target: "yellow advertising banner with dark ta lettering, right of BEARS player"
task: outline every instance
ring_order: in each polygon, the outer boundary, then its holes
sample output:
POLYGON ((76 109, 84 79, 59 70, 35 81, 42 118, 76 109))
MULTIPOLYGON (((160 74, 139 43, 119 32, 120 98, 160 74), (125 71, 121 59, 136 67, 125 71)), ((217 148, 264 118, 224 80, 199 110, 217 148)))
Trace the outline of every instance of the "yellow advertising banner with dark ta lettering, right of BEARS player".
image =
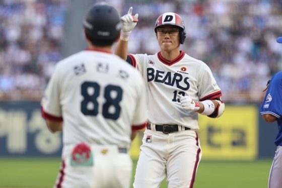
POLYGON ((199 115, 202 159, 251 160, 258 155, 256 106, 226 106, 217 119, 199 115))

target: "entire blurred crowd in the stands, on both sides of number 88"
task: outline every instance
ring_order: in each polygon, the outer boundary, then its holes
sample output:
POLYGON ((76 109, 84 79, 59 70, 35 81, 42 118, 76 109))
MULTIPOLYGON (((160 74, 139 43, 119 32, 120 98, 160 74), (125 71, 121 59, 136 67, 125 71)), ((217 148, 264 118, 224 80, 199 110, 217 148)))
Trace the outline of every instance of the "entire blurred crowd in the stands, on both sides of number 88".
MULTIPOLYGON (((39 100, 55 63, 62 58, 69 2, 0 2, 0 99, 39 100)), ((225 102, 260 103, 266 82, 282 70, 282 45, 276 43, 282 36, 282 0, 104 2, 114 4, 121 15, 129 7, 133 15, 139 14, 129 53, 158 52, 156 19, 165 12, 179 14, 187 32, 181 49, 212 69, 225 102)))

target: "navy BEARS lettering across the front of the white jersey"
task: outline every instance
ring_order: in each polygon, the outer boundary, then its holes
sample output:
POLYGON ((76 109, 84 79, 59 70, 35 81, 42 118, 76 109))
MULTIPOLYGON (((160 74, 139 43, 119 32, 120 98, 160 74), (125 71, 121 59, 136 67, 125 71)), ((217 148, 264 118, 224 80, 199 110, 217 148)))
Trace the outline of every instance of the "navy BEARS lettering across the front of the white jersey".
POLYGON ((154 68, 147 68, 147 80, 155 81, 159 83, 164 83, 166 85, 173 86, 176 83, 176 87, 182 90, 188 90, 190 87, 190 84, 188 83, 188 77, 182 76, 182 74, 179 74, 177 72, 165 72, 161 70, 156 70, 154 68), (180 83, 184 82, 184 85, 181 86, 180 83))

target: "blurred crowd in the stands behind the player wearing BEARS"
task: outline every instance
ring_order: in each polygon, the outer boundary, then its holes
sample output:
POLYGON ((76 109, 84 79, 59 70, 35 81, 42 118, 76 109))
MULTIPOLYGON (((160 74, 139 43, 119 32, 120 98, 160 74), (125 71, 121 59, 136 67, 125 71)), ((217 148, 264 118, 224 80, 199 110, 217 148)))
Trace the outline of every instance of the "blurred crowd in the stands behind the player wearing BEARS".
POLYGON ((165 12, 179 14, 187 32, 181 49, 212 69, 226 102, 261 103, 267 81, 282 70, 282 45, 276 43, 282 36, 281 0, 126 2, 123 14, 131 6, 139 14, 130 52, 158 52, 156 19, 165 12))

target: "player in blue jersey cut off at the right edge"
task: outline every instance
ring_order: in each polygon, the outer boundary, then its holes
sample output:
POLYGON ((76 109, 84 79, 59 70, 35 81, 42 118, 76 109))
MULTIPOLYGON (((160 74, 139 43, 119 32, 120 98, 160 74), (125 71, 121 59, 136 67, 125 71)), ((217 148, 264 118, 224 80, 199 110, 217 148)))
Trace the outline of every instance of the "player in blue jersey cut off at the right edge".
MULTIPOLYGON (((282 43, 282 37, 277 38, 282 43)), ((277 72, 267 83, 267 91, 260 107, 264 121, 278 124, 278 133, 274 141, 277 146, 272 166, 269 172, 268 188, 282 186, 282 71, 277 72)))

